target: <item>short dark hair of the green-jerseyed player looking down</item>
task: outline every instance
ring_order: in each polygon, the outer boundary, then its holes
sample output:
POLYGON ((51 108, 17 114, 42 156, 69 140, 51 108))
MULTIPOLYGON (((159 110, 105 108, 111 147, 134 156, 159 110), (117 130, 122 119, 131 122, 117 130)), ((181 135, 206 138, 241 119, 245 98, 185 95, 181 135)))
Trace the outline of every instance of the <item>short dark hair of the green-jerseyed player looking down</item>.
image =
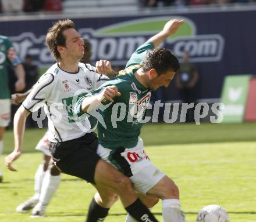
POLYGON ((180 63, 170 50, 159 47, 147 52, 147 55, 140 63, 140 68, 144 72, 154 68, 158 75, 161 75, 169 70, 176 72, 180 68, 180 63))

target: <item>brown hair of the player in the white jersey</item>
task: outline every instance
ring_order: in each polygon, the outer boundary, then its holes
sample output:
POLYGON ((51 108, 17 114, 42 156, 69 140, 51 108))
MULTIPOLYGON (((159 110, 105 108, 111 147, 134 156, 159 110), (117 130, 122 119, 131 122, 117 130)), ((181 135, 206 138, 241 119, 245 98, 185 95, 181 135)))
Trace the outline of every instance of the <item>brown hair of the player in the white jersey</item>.
POLYGON ((61 58, 57 46, 65 46, 66 37, 62 33, 68 28, 74 28, 74 23, 72 20, 58 20, 53 24, 51 28, 49 28, 47 32, 46 43, 52 53, 52 56, 54 56, 54 59, 56 61, 61 58))

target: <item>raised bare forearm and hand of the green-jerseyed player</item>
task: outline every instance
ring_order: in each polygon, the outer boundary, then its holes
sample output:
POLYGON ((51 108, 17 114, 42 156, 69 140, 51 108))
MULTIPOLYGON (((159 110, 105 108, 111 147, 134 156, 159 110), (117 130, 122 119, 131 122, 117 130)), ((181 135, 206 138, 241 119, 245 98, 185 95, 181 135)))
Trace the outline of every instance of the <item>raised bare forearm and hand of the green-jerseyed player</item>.
POLYGON ((183 23, 184 19, 172 19, 168 21, 163 27, 163 30, 148 39, 148 41, 154 43, 155 47, 158 47, 166 38, 174 34, 183 23))

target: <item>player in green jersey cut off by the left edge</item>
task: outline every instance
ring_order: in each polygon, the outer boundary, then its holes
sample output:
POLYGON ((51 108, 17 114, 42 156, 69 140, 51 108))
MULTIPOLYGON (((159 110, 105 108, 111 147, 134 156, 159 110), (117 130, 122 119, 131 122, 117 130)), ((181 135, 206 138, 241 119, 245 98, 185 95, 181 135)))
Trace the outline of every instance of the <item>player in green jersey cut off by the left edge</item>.
MULTIPOLYGON (((10 90, 8 85, 7 66, 11 65, 17 77, 15 90, 21 91, 25 88, 25 72, 19 57, 13 48, 12 42, 8 37, 0 35, 0 155, 3 150, 3 133, 10 122, 10 90)), ((0 183, 2 172, 0 169, 0 183)))

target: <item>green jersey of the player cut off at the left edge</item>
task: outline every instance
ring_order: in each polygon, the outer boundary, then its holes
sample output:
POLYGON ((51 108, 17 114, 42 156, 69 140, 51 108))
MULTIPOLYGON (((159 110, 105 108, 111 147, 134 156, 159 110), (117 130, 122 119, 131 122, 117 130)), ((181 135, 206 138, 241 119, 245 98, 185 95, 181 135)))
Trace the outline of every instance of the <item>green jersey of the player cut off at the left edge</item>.
POLYGON ((10 99, 7 65, 15 67, 20 63, 8 37, 0 35, 0 99, 10 99))

